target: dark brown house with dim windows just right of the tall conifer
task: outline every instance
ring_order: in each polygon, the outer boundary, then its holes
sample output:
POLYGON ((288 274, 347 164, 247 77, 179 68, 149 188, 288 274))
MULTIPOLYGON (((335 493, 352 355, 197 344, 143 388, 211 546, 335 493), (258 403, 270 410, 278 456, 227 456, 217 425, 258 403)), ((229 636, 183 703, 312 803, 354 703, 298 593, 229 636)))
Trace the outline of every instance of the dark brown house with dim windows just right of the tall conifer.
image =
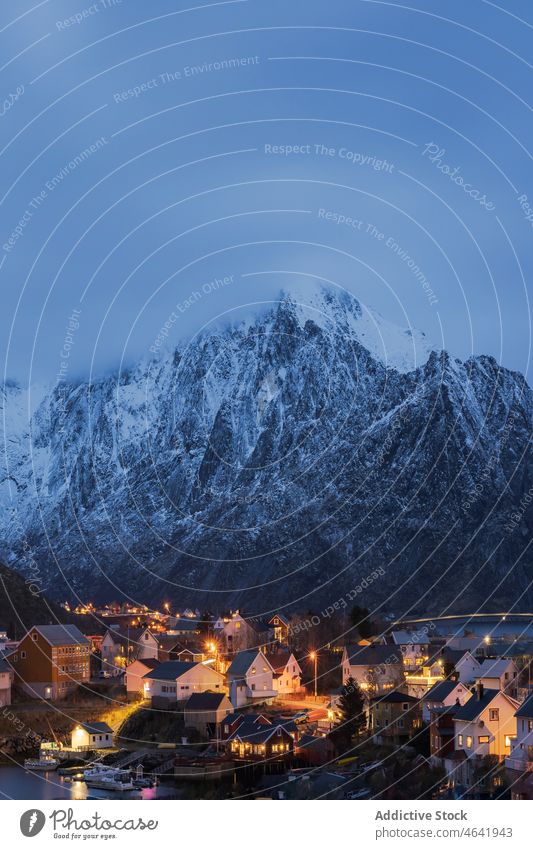
POLYGON ((422 725, 418 699, 397 691, 371 699, 368 718, 369 730, 380 744, 401 746, 422 725))

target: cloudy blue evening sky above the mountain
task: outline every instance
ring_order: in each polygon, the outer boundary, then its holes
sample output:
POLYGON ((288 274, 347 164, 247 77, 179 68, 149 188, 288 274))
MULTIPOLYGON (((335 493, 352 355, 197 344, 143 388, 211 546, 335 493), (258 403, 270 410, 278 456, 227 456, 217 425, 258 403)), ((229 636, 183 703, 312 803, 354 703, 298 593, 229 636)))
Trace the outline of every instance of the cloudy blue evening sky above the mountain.
POLYGON ((314 275, 531 377, 532 36, 527 0, 3 3, 4 375, 54 380, 73 310, 100 374, 314 275))

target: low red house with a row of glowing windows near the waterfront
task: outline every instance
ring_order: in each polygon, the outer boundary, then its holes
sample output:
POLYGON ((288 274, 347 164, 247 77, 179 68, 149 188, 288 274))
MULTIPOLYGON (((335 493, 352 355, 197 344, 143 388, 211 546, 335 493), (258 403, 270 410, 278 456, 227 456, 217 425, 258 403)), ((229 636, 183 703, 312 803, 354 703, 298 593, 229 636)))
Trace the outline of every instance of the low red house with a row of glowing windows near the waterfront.
POLYGON ((232 758, 251 761, 287 758, 294 750, 294 741, 283 725, 256 722, 246 714, 225 745, 232 758))

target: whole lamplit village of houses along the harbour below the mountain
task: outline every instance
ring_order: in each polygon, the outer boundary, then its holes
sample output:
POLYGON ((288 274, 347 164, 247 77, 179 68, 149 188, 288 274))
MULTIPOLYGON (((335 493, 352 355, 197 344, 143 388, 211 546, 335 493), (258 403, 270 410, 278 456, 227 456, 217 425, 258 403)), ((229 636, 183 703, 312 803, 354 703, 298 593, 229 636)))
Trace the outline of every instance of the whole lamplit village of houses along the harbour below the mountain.
POLYGON ((0 630, 0 737, 72 798, 533 798, 532 643, 358 607, 64 609, 81 627, 0 630))

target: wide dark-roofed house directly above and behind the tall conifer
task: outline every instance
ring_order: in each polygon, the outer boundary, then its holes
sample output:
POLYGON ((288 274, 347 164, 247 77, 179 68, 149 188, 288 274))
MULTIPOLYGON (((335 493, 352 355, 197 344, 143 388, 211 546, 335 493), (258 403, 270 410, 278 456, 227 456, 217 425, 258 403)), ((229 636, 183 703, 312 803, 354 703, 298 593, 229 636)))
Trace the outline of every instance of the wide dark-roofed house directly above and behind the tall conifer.
POLYGON ((403 656, 391 645, 348 645, 342 653, 342 683, 353 678, 369 696, 385 693, 404 681, 403 656))

